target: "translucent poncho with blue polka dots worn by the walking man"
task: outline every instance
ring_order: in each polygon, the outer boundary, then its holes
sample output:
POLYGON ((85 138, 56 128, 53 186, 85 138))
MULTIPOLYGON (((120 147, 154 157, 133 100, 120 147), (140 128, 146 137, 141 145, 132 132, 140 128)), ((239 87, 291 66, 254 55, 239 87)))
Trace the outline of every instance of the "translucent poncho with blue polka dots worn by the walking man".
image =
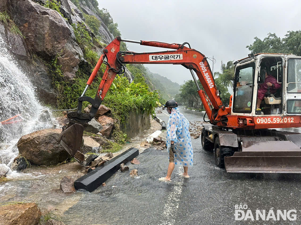
POLYGON ((189 121, 180 113, 178 107, 173 107, 166 128, 166 147, 169 153, 171 141, 175 142, 174 163, 178 166, 193 166, 193 150, 188 127, 189 121))

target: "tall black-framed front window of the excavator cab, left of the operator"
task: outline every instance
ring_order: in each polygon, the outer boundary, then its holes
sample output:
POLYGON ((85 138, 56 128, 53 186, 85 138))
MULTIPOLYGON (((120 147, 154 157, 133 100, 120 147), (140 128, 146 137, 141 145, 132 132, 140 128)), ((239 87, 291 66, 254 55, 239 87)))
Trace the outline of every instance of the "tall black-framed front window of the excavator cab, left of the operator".
POLYGON ((253 100, 255 63, 236 68, 234 81, 233 112, 251 113, 253 100))

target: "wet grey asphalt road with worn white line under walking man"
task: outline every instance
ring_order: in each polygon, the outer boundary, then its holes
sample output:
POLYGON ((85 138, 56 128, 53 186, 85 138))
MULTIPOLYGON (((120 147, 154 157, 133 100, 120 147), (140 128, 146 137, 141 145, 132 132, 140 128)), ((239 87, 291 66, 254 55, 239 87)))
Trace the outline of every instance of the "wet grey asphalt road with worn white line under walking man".
MULTIPOLYGON (((203 114, 180 110, 190 121, 202 121, 203 114)), ((166 113, 166 111, 164 111, 166 113)), ((167 122, 168 116, 157 114, 167 122)), ((213 152, 203 151, 200 138, 192 139, 194 166, 188 179, 175 167, 172 182, 159 181, 168 167, 166 150, 147 149, 137 159, 138 178, 116 172, 93 193, 64 214, 66 224, 301 224, 299 174, 226 173, 214 164, 213 152), (116 187, 112 187, 116 186, 116 187), (246 204, 255 221, 235 221, 235 205, 246 204), (272 208, 276 221, 257 220, 256 209, 272 208), (296 210, 296 220, 277 220, 277 210, 296 210)), ((247 212, 244 210, 244 212, 247 212)))

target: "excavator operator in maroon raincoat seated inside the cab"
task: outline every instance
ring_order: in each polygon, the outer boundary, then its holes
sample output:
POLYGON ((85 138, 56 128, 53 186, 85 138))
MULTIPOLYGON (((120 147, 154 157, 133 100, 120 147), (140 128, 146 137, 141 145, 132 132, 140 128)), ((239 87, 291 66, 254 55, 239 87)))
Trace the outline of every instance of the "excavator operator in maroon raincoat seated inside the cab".
MULTIPOLYGON (((277 79, 270 74, 269 67, 265 67, 264 69, 265 81, 262 84, 260 84, 260 87, 257 92, 257 109, 259 109, 260 104, 265 97, 265 93, 268 91, 268 87, 270 87, 271 94, 275 94, 277 89, 281 87, 281 84, 278 84, 277 79)), ((261 112, 261 114, 263 115, 263 112, 261 112)))

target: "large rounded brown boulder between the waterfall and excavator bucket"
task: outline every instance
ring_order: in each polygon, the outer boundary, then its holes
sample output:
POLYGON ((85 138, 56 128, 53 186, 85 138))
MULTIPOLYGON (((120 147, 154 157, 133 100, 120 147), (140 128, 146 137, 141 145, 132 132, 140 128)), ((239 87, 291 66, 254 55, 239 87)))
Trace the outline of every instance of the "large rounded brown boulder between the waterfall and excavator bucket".
POLYGON ((44 129, 23 135, 17 147, 19 153, 37 165, 56 165, 70 157, 58 142, 61 129, 44 129))

